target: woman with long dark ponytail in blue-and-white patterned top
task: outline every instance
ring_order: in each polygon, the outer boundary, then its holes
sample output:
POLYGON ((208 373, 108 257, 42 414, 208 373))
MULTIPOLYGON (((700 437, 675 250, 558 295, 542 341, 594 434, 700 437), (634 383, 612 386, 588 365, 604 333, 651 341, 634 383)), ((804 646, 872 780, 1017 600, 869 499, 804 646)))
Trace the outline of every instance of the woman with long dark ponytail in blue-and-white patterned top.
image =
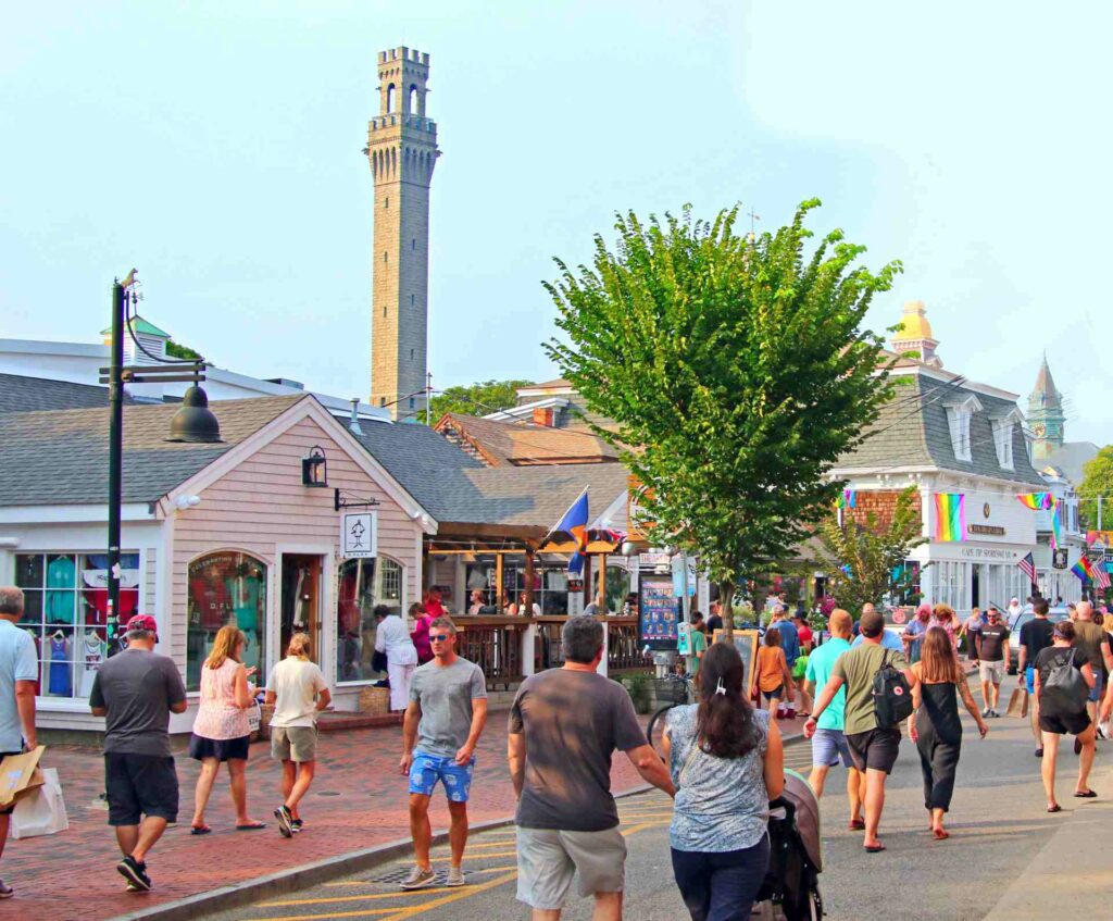
POLYGON ((745 677, 738 650, 711 644, 699 703, 667 717, 672 872, 692 921, 749 921, 769 864, 769 801, 785 788, 785 754, 777 722, 750 705, 745 677))

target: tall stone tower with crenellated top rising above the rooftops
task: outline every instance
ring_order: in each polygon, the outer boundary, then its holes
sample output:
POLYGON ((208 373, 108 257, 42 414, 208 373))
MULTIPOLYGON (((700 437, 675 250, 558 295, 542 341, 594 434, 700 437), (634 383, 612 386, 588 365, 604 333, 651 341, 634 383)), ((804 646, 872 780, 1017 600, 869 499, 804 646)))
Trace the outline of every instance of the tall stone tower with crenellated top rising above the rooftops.
POLYGON ((378 116, 364 153, 375 183, 371 402, 394 419, 425 409, 429 187, 441 151, 425 117, 429 55, 378 52, 378 116))

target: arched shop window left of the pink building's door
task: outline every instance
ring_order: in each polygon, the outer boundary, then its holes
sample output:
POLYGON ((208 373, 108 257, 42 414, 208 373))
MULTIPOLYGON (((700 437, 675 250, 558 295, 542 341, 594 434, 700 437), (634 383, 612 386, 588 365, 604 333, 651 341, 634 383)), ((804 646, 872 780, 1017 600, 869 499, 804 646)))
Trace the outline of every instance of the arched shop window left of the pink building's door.
POLYGON ((247 553, 209 553, 189 564, 186 628, 186 690, 200 688, 201 665, 221 627, 239 627, 247 637, 243 660, 267 674, 267 566, 247 553))

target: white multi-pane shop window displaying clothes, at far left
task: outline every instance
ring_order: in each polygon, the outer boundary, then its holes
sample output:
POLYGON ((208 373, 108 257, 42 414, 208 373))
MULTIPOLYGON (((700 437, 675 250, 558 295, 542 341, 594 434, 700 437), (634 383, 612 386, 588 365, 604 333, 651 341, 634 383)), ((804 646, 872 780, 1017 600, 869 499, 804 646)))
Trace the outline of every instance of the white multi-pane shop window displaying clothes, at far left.
MULTIPOLYGON (((88 697, 108 655, 108 555, 17 553, 20 629, 39 654, 42 697, 88 697)), ((139 609, 139 555, 120 555, 120 624, 139 609)))

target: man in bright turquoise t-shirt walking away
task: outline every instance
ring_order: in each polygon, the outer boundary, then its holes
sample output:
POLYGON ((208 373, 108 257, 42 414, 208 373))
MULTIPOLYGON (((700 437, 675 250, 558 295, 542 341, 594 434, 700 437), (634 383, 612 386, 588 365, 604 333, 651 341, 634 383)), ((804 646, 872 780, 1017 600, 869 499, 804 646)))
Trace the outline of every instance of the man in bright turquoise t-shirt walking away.
MULTIPOLYGON (((826 687, 831 677, 831 669, 835 668, 836 659, 850 648, 850 630, 854 621, 847 611, 841 608, 833 610, 827 626, 831 638, 808 656, 805 679, 808 683, 808 693, 812 696, 817 689, 826 687)), ((865 784, 866 775, 855 768, 854 760, 850 757, 850 748, 846 743, 843 722, 845 706, 846 689, 839 688, 830 706, 819 717, 816 734, 811 739, 811 774, 808 776, 808 783, 811 785, 816 798, 821 797, 827 772, 835 767, 841 758, 843 766, 847 771, 846 795, 850 800, 850 823, 847 827, 860 832, 866 827, 866 823, 861 820, 861 787, 865 784)))

